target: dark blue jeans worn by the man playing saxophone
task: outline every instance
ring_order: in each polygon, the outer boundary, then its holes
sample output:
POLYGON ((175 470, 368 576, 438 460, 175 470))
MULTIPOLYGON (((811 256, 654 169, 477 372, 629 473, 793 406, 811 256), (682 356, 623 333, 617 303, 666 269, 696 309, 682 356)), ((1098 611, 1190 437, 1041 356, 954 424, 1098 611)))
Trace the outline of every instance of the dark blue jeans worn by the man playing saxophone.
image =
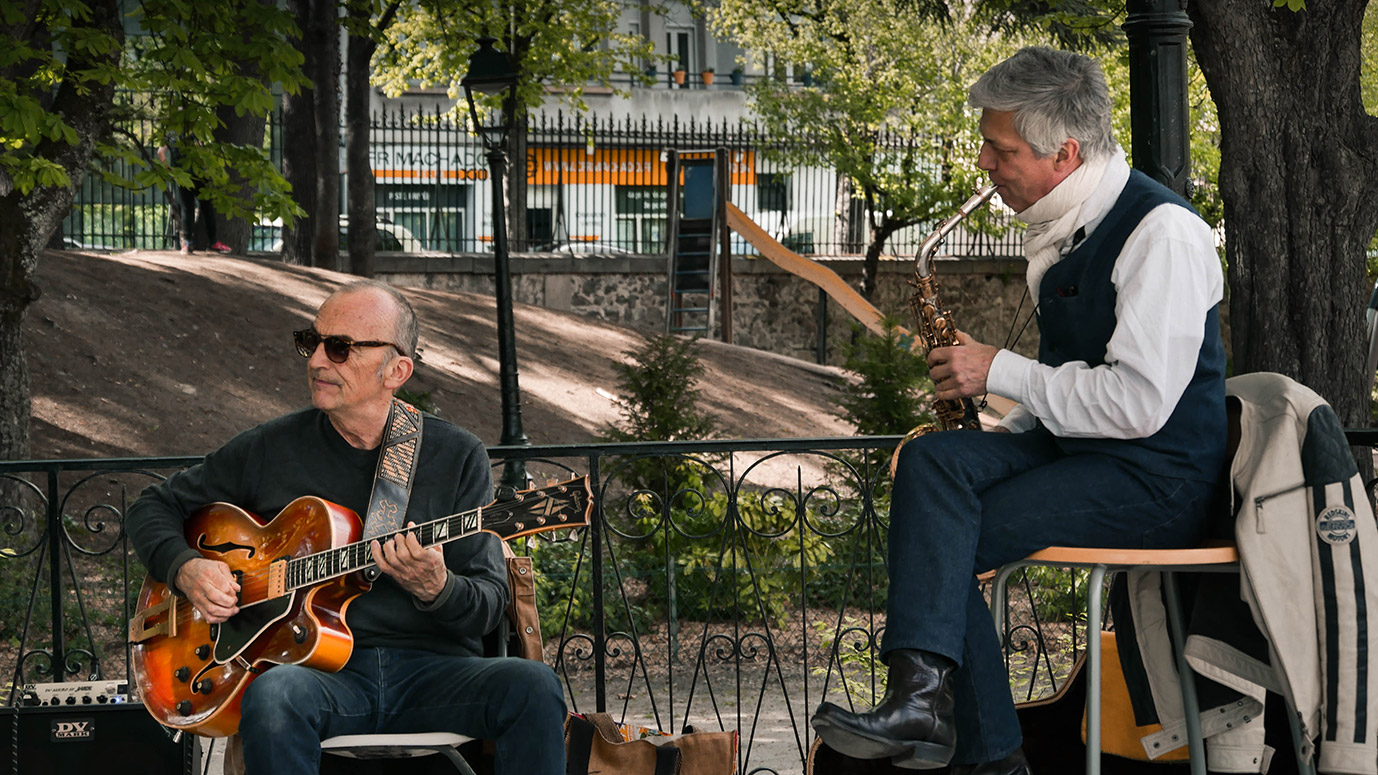
POLYGON ((1214 483, 1065 455, 1046 430, 930 433, 904 447, 890 505, 886 629, 897 648, 956 662, 955 764, 1021 743, 1000 640, 976 574, 1046 546, 1160 549, 1204 536, 1214 483))

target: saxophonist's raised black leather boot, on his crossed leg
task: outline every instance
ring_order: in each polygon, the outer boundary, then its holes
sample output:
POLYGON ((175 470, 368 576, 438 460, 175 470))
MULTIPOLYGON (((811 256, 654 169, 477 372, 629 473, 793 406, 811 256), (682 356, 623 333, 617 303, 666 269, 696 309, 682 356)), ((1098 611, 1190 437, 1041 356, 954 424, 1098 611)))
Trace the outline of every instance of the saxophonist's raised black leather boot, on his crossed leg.
POLYGON ((828 747, 854 758, 885 758, 911 769, 937 769, 952 758, 955 665, 927 651, 889 654, 889 680, 881 703, 868 713, 852 713, 824 702, 813 714, 813 728, 828 747))

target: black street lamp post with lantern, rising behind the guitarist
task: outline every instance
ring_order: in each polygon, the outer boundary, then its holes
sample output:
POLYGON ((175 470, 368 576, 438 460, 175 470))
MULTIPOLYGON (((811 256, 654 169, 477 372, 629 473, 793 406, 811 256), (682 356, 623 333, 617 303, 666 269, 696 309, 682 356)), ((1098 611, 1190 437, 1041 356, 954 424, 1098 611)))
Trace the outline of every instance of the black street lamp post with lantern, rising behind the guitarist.
MULTIPOLYGON (((503 179, 507 177, 507 139, 513 128, 513 108, 517 101, 517 70, 507 55, 493 48, 492 37, 478 39, 478 51, 469 58, 469 72, 460 85, 469 101, 469 116, 488 152, 488 170, 493 182, 493 273, 497 298, 497 382, 503 396, 503 447, 522 447, 526 434, 521 429, 521 388, 517 385, 517 339, 513 332, 513 283, 507 266, 507 208, 503 200, 503 179), (502 94, 503 106, 496 120, 478 120, 474 92, 502 94)), ((489 114, 489 119, 493 119, 489 114)), ((503 466, 502 487, 526 487, 526 462, 508 459, 503 466)))

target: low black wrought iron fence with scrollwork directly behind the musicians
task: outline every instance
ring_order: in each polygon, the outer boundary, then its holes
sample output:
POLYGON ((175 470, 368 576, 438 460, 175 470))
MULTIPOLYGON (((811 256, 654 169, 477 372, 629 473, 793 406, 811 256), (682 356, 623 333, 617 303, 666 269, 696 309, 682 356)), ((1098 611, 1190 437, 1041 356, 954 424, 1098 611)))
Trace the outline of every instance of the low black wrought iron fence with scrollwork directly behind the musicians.
MULTIPOLYGON (((493 448, 536 481, 587 474, 587 530, 521 541, 535 557, 546 662, 572 710, 741 734, 740 771, 801 772, 823 699, 870 705, 885 629, 897 437, 493 448)), ((0 676, 130 680, 143 570, 123 520, 198 458, 0 463, 0 676)), ((1061 582, 1075 582, 1075 576, 1061 582)), ((1021 592, 1022 589, 1022 592, 1021 592)), ((1084 633, 1011 594, 1020 698, 1050 694, 1084 633)), ((1061 592, 1065 594, 1065 590, 1061 592)), ((1072 608, 1075 611, 1075 607, 1072 608)))

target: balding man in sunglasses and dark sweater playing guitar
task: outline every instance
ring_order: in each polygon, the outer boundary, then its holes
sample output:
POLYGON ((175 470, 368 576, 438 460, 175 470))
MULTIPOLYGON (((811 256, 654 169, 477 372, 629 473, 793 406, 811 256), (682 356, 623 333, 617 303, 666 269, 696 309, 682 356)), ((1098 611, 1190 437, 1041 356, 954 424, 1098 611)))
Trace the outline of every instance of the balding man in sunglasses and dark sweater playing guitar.
MULTIPOLYGON (((150 576, 214 626, 240 612, 245 579, 189 543, 193 512, 225 502, 276 514, 314 495, 368 514, 393 394, 412 375, 416 341, 411 305, 384 283, 353 283, 325 299, 314 325, 295 334, 309 359, 311 408, 236 436, 130 507, 127 530, 150 576)), ((488 503, 492 476, 478 439, 429 415, 422 425, 407 524, 488 503)), ((423 547, 413 532, 400 532, 369 547, 382 575, 347 603, 353 651, 343 667, 274 665, 244 690, 238 732, 248 775, 317 772, 322 739, 373 732, 491 739, 499 774, 562 774, 565 702, 554 672, 482 655, 482 636, 508 598, 497 536, 423 547)))

